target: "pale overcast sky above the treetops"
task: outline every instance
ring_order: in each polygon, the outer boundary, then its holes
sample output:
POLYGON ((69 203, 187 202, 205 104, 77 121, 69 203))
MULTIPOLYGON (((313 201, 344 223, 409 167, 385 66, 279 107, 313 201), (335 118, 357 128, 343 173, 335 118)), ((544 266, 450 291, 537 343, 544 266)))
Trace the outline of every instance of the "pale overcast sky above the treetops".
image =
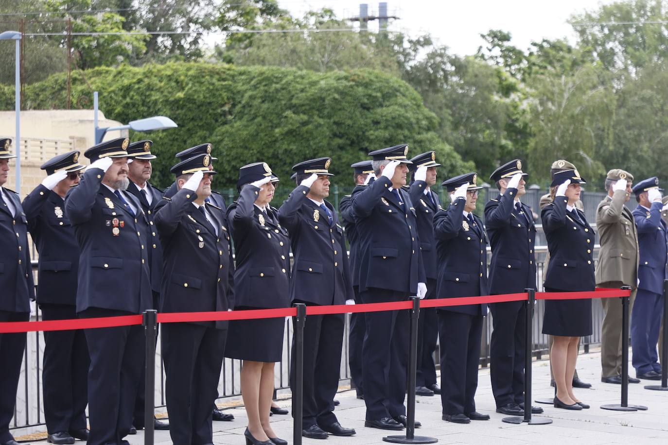
MULTIPOLYGON (((329 7, 339 17, 358 15, 360 3, 369 5, 370 15, 377 13, 378 1, 279 0, 279 5, 293 15, 329 7)), ((411 37, 430 33, 452 52, 467 55, 478 50, 483 43, 479 34, 489 29, 510 31, 513 44, 521 49, 543 37, 566 37, 574 42, 572 28, 566 23, 568 17, 613 0, 388 0, 386 3, 389 15, 399 17, 390 22, 389 29, 411 37)), ((370 22, 369 29, 377 30, 377 22, 370 22)))

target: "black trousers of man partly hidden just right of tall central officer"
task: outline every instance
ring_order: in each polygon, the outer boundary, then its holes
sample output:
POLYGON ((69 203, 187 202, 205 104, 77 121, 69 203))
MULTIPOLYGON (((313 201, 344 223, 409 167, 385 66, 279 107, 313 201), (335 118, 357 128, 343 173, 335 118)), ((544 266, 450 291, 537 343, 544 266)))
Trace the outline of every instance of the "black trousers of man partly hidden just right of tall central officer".
MULTIPOLYGON (((427 296, 436 294, 436 280, 427 281, 427 296)), ((418 363, 416 364, 415 386, 432 386, 436 384, 436 364, 434 351, 438 340, 438 316, 436 308, 420 308, 418 320, 418 363)))

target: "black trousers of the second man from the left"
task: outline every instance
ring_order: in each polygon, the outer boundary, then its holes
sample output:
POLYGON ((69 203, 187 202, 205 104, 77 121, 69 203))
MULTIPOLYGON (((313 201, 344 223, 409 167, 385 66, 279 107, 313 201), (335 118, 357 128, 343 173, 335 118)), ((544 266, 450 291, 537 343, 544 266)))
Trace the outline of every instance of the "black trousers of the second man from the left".
MULTIPOLYGON (((40 304, 42 320, 77 318, 76 306, 40 304)), ((83 330, 44 332, 42 390, 49 434, 87 428, 90 357, 83 330)))

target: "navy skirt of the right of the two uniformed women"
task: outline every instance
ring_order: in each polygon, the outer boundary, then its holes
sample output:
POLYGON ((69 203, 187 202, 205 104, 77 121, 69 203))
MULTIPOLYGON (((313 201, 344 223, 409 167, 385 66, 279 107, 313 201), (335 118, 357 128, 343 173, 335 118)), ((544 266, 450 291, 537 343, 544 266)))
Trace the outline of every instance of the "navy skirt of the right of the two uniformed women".
MULTIPOLYGON (((568 292, 545 288, 545 292, 568 292)), ((591 299, 544 300, 542 333, 550 336, 586 337, 591 336, 591 299)))

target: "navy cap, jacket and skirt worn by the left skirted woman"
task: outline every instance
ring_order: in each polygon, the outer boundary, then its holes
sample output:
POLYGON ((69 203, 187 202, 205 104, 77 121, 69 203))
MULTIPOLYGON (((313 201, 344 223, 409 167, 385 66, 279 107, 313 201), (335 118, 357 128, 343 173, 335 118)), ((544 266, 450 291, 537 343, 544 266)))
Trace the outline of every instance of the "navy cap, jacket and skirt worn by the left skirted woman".
MULTIPOLYGON (((278 210, 260 209, 261 191, 252 182, 279 178, 264 162, 239 170, 238 201, 227 208, 227 220, 236 251, 234 310, 289 308, 290 238, 279 224, 278 210)), ((283 357, 285 319, 231 320, 225 356, 253 362, 280 362, 283 357)))

